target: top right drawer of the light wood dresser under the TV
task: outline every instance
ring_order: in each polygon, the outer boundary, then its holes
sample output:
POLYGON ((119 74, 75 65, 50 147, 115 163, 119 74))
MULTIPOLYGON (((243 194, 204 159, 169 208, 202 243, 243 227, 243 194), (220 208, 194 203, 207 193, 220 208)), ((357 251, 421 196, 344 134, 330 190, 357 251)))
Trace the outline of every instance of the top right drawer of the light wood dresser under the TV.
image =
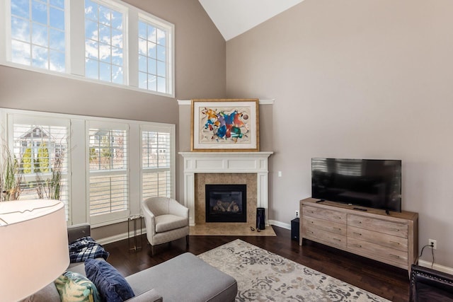
POLYGON ((389 234, 402 238, 408 238, 408 226, 403 223, 396 223, 386 220, 374 219, 360 215, 349 214, 348 226, 365 228, 379 233, 389 234))

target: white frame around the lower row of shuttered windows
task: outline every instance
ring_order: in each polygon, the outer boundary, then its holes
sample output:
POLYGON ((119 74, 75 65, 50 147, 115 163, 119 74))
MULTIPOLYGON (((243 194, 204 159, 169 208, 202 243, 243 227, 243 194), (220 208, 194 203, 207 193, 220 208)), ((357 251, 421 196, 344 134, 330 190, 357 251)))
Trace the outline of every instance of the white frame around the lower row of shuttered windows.
MULTIPOLYGON (((69 123, 68 146, 68 194, 69 225, 91 223, 91 226, 106 226, 113 223, 127 221, 128 216, 141 214, 142 203, 142 132, 141 129, 156 129, 164 127, 171 133, 171 192, 176 192, 176 125, 158 122, 144 122, 136 120, 120 120, 103 117, 81 115, 65 115, 50 112, 35 112, 29 110, 14 110, 0 108, 0 141, 8 141, 8 115, 23 117, 28 123, 33 119, 65 120, 69 123), (102 218, 93 219, 89 211, 89 141, 88 129, 94 124, 115 124, 128 129, 127 137, 127 173, 128 173, 128 209, 122 215, 105 214, 102 218)), ((0 155, 4 150, 0 149, 0 155)), ((3 156, 0 157, 0 164, 3 156)))

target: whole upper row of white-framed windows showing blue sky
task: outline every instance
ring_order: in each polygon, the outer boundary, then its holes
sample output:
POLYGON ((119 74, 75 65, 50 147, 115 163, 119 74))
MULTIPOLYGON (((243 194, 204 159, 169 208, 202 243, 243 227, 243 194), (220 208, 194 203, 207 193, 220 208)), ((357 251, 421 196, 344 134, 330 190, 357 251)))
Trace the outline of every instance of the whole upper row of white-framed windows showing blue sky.
POLYGON ((174 25, 120 0, 6 0, 0 64, 174 96, 174 25))

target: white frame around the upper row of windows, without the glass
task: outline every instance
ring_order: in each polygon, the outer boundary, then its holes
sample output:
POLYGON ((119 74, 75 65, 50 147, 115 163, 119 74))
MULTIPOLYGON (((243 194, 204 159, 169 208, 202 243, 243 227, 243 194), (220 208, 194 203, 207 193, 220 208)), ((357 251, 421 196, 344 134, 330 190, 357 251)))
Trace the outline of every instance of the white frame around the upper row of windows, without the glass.
POLYGON ((105 6, 115 9, 122 8, 125 15, 125 40, 123 45, 123 61, 125 70, 123 74, 124 85, 85 77, 85 13, 83 0, 64 0, 65 4, 65 37, 66 37, 66 68, 65 72, 50 71, 34 66, 26 66, 11 62, 11 0, 0 0, 0 64, 18 69, 36 71, 42 74, 52 74, 79 81, 98 83, 106 86, 125 88, 142 93, 175 97, 175 25, 158 18, 151 13, 120 0, 96 0, 105 6), (149 91, 139 88, 138 65, 138 20, 149 19, 160 28, 167 30, 168 38, 168 72, 167 92, 149 91))

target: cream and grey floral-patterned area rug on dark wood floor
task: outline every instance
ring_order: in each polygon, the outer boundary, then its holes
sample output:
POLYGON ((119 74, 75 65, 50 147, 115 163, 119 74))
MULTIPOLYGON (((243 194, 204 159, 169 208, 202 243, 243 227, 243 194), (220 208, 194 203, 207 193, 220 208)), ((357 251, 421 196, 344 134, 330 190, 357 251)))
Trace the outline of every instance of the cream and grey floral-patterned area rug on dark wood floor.
POLYGON ((388 301, 239 239, 198 257, 236 279, 236 301, 388 301))

